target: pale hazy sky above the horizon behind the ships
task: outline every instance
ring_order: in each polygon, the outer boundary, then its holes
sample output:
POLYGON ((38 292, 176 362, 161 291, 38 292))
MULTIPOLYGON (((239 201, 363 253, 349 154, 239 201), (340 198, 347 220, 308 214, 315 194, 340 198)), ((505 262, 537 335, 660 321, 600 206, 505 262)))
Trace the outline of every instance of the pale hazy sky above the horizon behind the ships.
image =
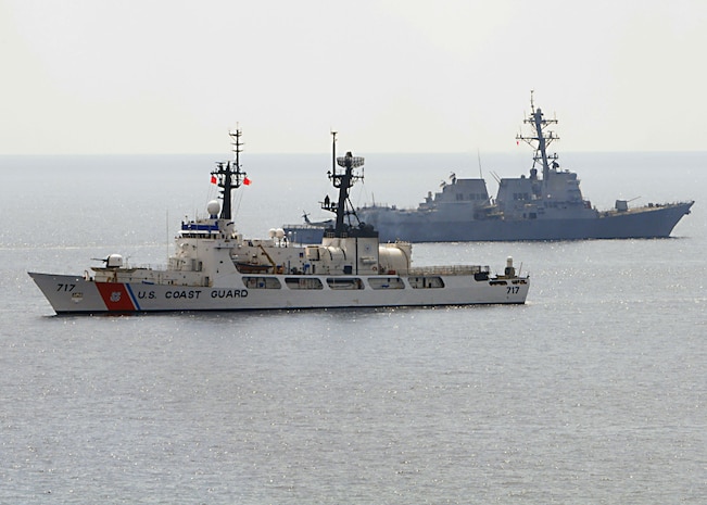
POLYGON ((0 154, 705 150, 707 1, 0 0, 0 154), (527 147, 525 148, 527 149, 527 147))

